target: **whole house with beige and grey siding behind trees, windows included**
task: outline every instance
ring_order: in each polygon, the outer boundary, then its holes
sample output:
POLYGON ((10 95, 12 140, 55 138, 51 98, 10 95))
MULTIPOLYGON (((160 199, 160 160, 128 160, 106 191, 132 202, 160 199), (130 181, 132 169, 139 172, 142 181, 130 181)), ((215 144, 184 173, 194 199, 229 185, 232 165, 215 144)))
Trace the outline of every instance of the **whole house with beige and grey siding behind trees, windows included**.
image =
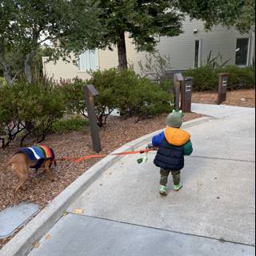
MULTIPOLYGON (((240 34, 234 28, 214 26, 212 30, 206 31, 202 21, 190 20, 189 17, 183 22, 184 33, 177 37, 159 38, 157 49, 161 56, 170 58, 172 70, 187 70, 202 66, 206 62, 210 52, 212 56, 220 54, 223 61, 230 60, 228 64, 237 66, 249 66, 255 57, 255 35, 254 30, 249 34, 240 34)), ((134 70, 140 74, 138 62, 146 61, 145 52, 135 50, 132 39, 126 36, 127 59, 134 70)), ((46 62, 42 58, 44 74, 55 80, 72 78, 90 78, 90 70, 106 70, 118 66, 118 51, 111 50, 86 50, 76 60, 77 65, 72 62, 66 63, 46 62)))

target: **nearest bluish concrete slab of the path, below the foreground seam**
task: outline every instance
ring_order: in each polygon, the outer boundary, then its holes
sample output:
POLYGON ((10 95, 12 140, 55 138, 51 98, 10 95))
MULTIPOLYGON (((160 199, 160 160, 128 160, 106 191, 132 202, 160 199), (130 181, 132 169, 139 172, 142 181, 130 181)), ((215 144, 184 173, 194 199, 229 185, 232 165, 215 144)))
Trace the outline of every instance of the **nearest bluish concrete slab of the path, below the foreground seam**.
POLYGON ((254 248, 210 238, 68 214, 30 256, 242 256, 254 248), (67 241, 70 241, 67 243, 67 241))

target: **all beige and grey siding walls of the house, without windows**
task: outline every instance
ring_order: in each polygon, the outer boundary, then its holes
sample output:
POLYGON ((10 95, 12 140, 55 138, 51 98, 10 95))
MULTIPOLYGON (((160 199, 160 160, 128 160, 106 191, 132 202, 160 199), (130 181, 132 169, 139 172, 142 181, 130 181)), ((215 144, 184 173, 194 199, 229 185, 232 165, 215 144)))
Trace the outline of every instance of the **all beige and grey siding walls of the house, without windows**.
MULTIPOLYGON (((190 18, 186 18, 183 22, 183 34, 178 37, 167 38, 162 37, 158 44, 157 50, 160 54, 170 56, 171 67, 174 70, 185 70, 190 67, 194 67, 194 42, 195 40, 201 41, 201 60, 202 63, 206 61, 210 50, 213 52, 213 56, 216 56, 218 52, 222 54, 223 61, 230 59, 230 64, 235 63, 235 50, 237 38, 251 38, 251 34, 239 34, 237 30, 233 28, 226 29, 222 26, 214 26, 211 31, 206 32, 204 30, 203 22, 198 20, 190 21, 190 18), (194 30, 197 29, 198 33, 194 34, 194 30)), ((252 41, 250 39, 250 41, 252 41)), ((126 50, 127 58, 130 65, 134 66, 136 72, 141 73, 139 70, 138 62, 145 61, 144 52, 137 52, 135 50, 132 39, 126 36, 126 50)), ((250 50, 253 54, 253 51, 250 50)), ((43 58, 43 62, 46 58, 43 58)), ((251 60, 251 58, 250 58, 251 60)), ((114 66, 118 66, 118 52, 114 48, 110 50, 98 50, 98 64, 100 70, 106 70, 114 66)), ((54 62, 48 62, 44 64, 44 72, 49 78, 90 78, 90 75, 86 72, 79 72, 78 67, 72 63, 65 63, 58 61, 56 65, 54 62)))

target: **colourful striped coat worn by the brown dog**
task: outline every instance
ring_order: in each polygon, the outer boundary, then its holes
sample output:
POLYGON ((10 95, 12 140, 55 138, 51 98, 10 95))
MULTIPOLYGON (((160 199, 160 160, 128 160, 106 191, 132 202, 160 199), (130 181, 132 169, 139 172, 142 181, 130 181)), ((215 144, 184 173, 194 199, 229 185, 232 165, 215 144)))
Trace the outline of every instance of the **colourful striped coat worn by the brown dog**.
POLYGON ((29 158, 30 161, 36 161, 35 166, 30 167, 34 169, 40 168, 45 160, 50 159, 54 161, 55 158, 54 150, 45 145, 24 147, 18 150, 16 154, 19 153, 26 154, 26 157, 29 158))

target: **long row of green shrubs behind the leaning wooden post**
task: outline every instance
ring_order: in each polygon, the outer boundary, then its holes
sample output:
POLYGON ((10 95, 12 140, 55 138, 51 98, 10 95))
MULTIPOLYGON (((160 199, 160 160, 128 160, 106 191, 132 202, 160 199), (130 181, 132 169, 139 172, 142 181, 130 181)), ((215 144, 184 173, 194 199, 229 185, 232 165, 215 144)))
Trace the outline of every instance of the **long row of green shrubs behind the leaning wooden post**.
MULTIPOLYGON (((116 109, 123 118, 137 117, 137 121, 156 114, 170 112, 174 101, 170 84, 158 85, 148 78, 141 78, 134 70, 104 70, 91 74, 87 84, 99 91, 95 98, 98 125, 106 124, 106 118, 116 109)), ((75 79, 70 84, 51 86, 50 83, 26 82, 0 87, 0 140, 8 146, 15 138, 22 146, 29 136, 42 142, 52 132, 80 130, 87 120, 62 119, 64 114, 86 115, 83 86, 75 79)))

